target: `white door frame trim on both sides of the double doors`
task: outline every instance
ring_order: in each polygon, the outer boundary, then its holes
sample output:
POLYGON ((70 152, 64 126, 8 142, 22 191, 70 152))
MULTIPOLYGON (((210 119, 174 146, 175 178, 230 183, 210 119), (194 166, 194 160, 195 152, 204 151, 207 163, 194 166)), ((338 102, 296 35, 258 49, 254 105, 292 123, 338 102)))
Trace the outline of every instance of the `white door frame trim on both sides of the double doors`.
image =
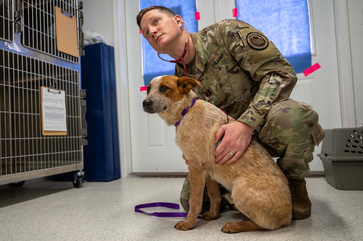
MULTIPOLYGON (((355 127, 355 108, 353 75, 351 68, 351 50, 348 26, 347 0, 333 0, 335 12, 335 30, 338 52, 338 72, 340 88, 340 107, 342 128, 355 127), (344 78, 343 78, 344 76, 344 78)), ((120 140, 121 178, 132 172, 131 135, 129 111, 129 86, 126 51, 126 8, 125 0, 112 0, 114 24, 114 48, 116 66, 116 86, 118 101, 118 126, 120 140), (126 56, 126 57, 125 57, 126 56)), ((309 1, 309 7, 311 3, 309 1)), ((310 8, 311 9, 311 8, 310 8)), ((136 16, 135 16, 136 19, 136 16)), ((136 24, 135 24, 136 27, 136 24)), ((132 54, 132 53, 131 53, 132 54)))

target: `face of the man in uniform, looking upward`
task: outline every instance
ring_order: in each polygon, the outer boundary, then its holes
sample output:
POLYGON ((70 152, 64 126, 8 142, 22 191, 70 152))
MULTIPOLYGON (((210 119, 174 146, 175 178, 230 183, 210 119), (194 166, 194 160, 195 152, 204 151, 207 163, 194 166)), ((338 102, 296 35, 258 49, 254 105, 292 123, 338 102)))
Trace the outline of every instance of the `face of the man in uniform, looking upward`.
POLYGON ((173 46, 172 42, 180 34, 180 27, 177 24, 178 16, 176 15, 173 18, 158 9, 153 9, 142 17, 140 22, 141 32, 151 47, 158 53, 168 54, 168 50, 173 46))

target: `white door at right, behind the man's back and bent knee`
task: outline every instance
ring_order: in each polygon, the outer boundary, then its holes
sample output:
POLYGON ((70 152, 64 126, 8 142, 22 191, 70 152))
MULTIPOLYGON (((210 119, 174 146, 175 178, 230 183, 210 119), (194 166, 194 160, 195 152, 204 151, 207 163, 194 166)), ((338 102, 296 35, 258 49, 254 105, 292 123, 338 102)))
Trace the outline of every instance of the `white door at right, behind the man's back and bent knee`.
MULTIPOLYGON (((337 45, 335 37, 333 0, 309 1, 312 36, 311 63, 321 68, 308 76, 298 74, 298 81, 290 97, 310 104, 319 114, 324 129, 342 128, 338 79, 337 45)), ((323 171, 317 156, 321 145, 315 147, 310 170, 323 171)))

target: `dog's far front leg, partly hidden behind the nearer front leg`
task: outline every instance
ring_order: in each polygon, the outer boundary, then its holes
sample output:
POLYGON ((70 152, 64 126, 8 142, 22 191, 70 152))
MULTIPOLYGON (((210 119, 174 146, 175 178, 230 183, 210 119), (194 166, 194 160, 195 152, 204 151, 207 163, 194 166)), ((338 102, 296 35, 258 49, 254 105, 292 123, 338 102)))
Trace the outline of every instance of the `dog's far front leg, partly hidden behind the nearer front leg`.
POLYGON ((202 219, 205 220, 215 220, 219 214, 219 206, 221 204, 221 193, 219 191, 218 183, 215 180, 212 180, 211 176, 207 175, 207 179, 205 180, 205 184, 207 185, 207 191, 209 199, 211 200, 211 207, 209 211, 205 211, 202 215, 202 219))

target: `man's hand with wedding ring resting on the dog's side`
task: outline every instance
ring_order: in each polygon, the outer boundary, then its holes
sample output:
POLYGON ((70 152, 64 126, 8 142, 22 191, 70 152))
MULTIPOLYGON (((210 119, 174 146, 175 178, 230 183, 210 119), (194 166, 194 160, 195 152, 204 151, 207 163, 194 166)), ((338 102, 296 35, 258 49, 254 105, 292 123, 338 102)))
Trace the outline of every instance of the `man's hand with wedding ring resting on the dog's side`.
POLYGON ((222 125, 216 133, 216 142, 223 134, 224 138, 215 151, 215 162, 220 164, 235 162, 250 144, 253 131, 252 126, 241 121, 222 125))

